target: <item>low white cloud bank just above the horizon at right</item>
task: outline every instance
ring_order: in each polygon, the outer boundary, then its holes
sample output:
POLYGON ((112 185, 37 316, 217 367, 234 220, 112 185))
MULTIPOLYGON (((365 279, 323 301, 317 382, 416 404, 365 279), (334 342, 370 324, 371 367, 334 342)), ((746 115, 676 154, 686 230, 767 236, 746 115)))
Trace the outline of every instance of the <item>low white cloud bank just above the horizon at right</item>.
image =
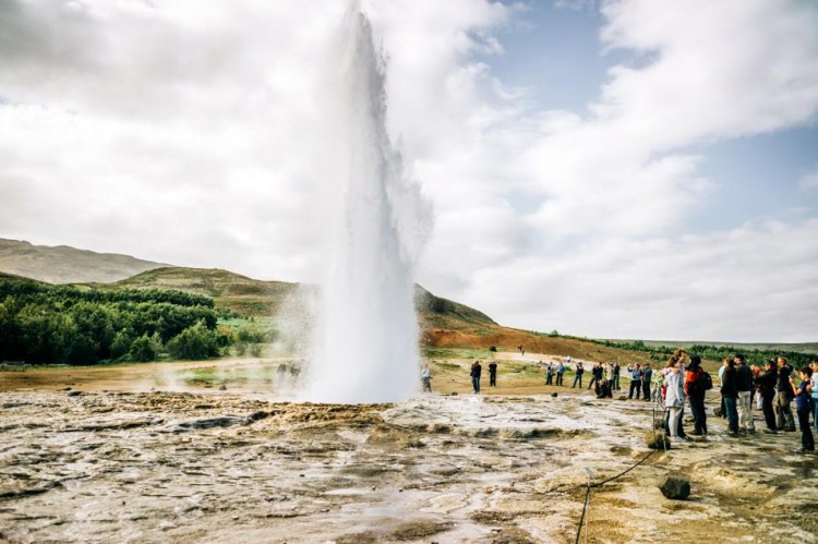
POLYGON ((481 270, 462 300, 493 309, 502 323, 542 331, 813 341, 815 240, 816 219, 675 241, 599 239, 558 258, 515 259, 481 270))

